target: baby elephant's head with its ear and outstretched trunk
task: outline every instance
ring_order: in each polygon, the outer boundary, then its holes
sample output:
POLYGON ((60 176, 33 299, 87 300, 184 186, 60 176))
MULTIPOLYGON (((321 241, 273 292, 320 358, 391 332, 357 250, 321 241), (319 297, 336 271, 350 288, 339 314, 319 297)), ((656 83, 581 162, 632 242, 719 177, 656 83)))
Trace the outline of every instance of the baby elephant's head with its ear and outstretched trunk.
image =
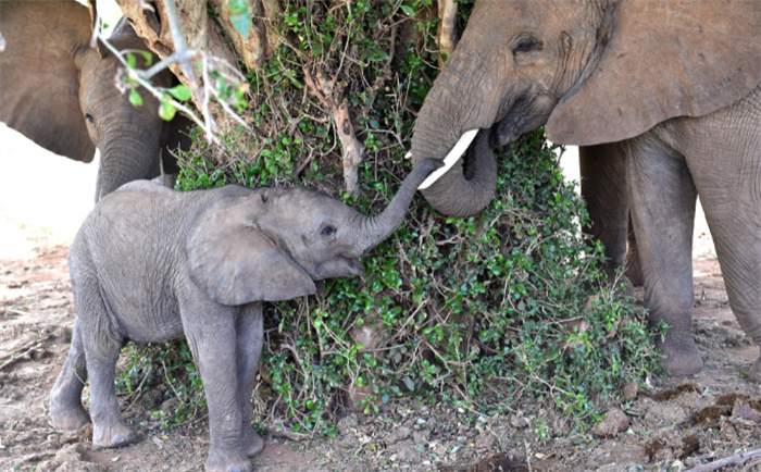
POLYGON ((209 207, 190 232, 190 276, 225 305, 289 300, 315 281, 362 275, 360 257, 401 224, 417 186, 440 163, 422 162, 374 218, 304 188, 234 194, 209 207))

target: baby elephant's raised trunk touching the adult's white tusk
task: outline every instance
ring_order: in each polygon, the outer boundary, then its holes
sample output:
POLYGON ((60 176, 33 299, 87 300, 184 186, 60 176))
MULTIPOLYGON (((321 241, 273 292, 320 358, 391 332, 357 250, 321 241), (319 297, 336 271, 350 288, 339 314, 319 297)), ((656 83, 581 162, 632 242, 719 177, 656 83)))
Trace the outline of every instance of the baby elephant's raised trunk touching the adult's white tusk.
POLYGON ((399 227, 404 220, 404 214, 407 214, 407 209, 410 207, 417 187, 439 165, 440 162, 433 159, 421 162, 404 178, 397 195, 391 199, 391 202, 383 213, 375 218, 358 215, 358 221, 353 227, 357 228, 357 247, 361 248, 363 253, 388 238, 399 227))

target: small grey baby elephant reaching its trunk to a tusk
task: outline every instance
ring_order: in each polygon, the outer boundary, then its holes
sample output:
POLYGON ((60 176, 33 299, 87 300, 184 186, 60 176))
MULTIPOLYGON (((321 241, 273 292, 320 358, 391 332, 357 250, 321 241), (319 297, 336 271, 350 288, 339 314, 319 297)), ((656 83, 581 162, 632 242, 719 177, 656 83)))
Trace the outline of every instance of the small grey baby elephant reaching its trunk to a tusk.
POLYGON ((415 189, 438 166, 413 170, 375 218, 303 188, 180 192, 134 182, 104 197, 68 253, 78 316, 50 397, 53 426, 78 428, 91 417, 93 444, 134 440, 114 390, 120 349, 185 334, 209 405, 205 469, 250 470, 247 457, 263 447, 251 427, 262 301, 362 275, 359 258, 401 224, 415 189), (88 376, 90 417, 82 405, 88 376))

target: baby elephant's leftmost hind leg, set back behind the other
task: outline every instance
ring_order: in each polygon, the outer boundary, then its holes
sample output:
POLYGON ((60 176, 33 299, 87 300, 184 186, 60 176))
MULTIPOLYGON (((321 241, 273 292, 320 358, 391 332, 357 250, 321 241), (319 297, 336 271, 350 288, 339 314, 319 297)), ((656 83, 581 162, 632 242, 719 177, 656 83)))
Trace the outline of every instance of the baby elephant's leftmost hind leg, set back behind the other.
POLYGON ((87 363, 80 330, 77 320, 74 322, 68 357, 50 393, 50 419, 53 427, 61 430, 78 430, 90 421, 82 406, 82 388, 87 382, 87 363))

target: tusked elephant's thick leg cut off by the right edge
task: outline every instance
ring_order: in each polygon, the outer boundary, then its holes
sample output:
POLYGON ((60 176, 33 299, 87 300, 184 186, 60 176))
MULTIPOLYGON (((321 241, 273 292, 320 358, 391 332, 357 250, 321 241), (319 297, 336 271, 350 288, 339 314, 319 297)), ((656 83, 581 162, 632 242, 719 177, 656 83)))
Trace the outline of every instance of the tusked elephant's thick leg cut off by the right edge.
MULTIPOLYGON (((683 129, 729 306, 761 346, 761 86, 733 107, 687 121, 683 129)), ((761 357, 748 377, 761 383, 761 357)))

